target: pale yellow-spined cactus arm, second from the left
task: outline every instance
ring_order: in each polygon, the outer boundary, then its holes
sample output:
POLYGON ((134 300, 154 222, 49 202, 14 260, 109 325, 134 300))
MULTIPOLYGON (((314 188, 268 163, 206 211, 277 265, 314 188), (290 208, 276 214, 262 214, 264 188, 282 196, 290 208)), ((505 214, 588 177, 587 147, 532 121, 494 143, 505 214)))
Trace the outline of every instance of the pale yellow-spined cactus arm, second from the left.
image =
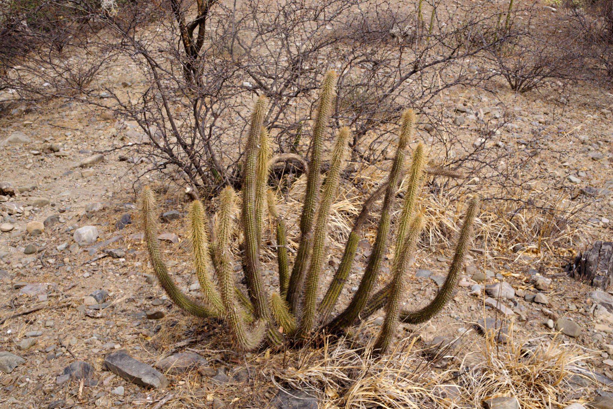
POLYGON ((211 258, 202 203, 192 201, 188 206, 188 215, 189 242, 191 243, 194 267, 196 267, 196 275, 204 294, 205 303, 210 305, 216 313, 223 315, 224 305, 211 278, 211 258))

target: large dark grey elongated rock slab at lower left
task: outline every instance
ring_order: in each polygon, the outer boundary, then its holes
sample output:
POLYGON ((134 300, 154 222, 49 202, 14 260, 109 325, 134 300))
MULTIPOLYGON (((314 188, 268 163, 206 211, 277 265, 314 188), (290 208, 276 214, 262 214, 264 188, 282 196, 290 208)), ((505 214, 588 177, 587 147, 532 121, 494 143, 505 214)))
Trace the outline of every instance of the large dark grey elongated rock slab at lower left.
POLYGON ((125 380, 145 386, 145 388, 164 389, 168 386, 168 380, 164 375, 149 365, 137 361, 124 351, 105 357, 102 366, 125 380))

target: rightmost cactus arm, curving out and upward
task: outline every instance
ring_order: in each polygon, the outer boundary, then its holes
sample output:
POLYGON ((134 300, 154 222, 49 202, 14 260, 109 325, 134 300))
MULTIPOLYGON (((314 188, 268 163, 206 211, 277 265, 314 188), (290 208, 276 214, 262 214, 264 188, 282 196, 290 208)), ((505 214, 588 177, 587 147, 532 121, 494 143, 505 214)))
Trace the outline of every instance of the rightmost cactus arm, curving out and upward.
POLYGON ((455 247, 454 259, 449 266, 449 272, 447 278, 443 283, 436 297, 419 311, 408 312, 403 311, 400 313, 400 321, 407 324, 420 324, 428 321, 428 319, 435 316, 440 310, 447 304, 447 301, 451 299, 454 288, 460 278, 462 267, 464 264, 464 257, 468 251, 468 243, 473 237, 473 221, 479 212, 479 199, 473 197, 468 204, 468 210, 464 216, 464 224, 462 225, 462 231, 460 231, 460 237, 455 247))

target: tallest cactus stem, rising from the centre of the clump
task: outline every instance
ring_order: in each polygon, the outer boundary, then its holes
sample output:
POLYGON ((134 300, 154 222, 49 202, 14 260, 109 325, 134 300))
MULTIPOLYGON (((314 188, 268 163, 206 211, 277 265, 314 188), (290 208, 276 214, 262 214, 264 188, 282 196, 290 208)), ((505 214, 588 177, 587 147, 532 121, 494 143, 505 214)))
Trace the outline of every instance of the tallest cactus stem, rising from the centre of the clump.
POLYGON ((302 207, 302 218, 300 218, 300 245, 294 261, 292 275, 289 278, 289 288, 287 289, 286 299, 290 310, 297 312, 302 285, 308 267, 308 260, 312 245, 311 229, 315 210, 319 202, 319 188, 321 188, 321 163, 324 156, 324 132, 326 123, 332 109, 332 102, 336 96, 335 83, 337 73, 333 70, 326 72, 324 82, 321 85, 319 94, 319 107, 315 126, 313 127, 313 137, 311 137, 311 158, 307 174, 307 191, 305 192, 304 204, 302 207))

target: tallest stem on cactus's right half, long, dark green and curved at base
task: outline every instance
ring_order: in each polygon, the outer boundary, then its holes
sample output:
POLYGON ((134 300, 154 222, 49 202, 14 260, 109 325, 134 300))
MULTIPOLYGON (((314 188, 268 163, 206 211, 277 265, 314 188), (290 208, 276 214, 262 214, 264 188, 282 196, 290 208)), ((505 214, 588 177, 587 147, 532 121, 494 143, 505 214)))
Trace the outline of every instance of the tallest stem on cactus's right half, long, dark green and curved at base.
POLYGON ((396 196, 396 186, 400 175, 403 174, 405 149, 406 145, 408 145, 408 141, 408 132, 404 134, 401 133, 398 139, 398 150, 396 151, 392 170, 389 175, 389 182, 386 187, 383 208, 381 209, 381 219, 379 220, 379 230, 377 231, 373 251, 368 259, 368 265, 364 270, 364 275, 362 275, 362 280, 360 280, 357 292, 354 294, 348 307, 327 325, 332 331, 338 331, 341 328, 350 326, 353 321, 356 320, 359 313, 364 309, 373 286, 375 286, 381 264, 383 264, 383 254, 387 247, 387 235, 390 229, 390 218, 392 216, 392 207, 396 196))

